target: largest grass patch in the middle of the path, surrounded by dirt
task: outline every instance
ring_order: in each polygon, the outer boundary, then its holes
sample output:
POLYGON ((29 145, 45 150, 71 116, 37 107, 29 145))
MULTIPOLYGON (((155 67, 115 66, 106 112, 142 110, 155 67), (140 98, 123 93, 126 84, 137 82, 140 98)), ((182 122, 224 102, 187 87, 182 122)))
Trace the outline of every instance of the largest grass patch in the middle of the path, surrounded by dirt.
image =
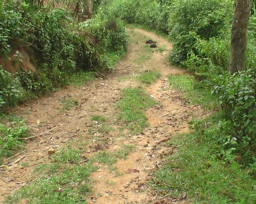
POLYGON ((133 133, 140 132, 148 126, 144 111, 156 104, 157 102, 148 96, 143 89, 125 88, 122 91, 122 99, 117 102, 120 108, 118 119, 122 119, 133 133))

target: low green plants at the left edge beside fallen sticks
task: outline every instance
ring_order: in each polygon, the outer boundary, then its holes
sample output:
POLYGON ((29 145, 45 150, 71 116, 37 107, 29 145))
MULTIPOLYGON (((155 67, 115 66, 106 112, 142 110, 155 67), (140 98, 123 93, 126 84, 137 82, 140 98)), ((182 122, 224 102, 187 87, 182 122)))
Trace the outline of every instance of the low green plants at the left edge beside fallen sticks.
POLYGON ((14 150, 24 144, 18 138, 27 137, 28 127, 22 118, 11 115, 0 116, 0 164, 5 157, 13 155, 14 150))

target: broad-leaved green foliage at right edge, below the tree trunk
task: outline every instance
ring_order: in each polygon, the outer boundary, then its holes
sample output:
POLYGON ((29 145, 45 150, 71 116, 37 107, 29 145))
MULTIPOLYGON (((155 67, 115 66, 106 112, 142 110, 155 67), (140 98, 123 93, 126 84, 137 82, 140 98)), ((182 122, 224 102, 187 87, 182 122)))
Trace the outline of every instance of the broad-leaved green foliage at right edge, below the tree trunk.
POLYGON ((216 79, 214 91, 230 119, 231 141, 247 161, 255 159, 256 150, 256 69, 216 79))

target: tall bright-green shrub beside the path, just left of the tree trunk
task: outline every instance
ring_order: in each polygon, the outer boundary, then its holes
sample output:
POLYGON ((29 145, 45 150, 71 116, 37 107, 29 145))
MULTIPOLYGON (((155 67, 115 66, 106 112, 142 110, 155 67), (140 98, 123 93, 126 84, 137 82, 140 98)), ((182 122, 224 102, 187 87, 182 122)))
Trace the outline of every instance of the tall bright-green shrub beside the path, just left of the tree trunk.
MULTIPOLYGON (((232 21, 232 2, 228 0, 179 0, 170 14, 169 34, 173 42, 171 59, 180 63, 195 51, 198 38, 209 40, 226 31, 232 21)), ((195 53, 197 54, 197 53, 195 53)))

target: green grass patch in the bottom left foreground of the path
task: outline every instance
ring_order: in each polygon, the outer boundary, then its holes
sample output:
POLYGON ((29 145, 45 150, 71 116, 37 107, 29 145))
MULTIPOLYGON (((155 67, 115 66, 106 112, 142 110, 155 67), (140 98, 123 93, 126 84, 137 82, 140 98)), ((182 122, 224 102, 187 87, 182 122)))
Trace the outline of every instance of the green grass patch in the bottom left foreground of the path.
POLYGON ((38 179, 8 196, 6 203, 18 204, 27 198, 28 204, 85 204, 91 191, 88 177, 96 167, 90 161, 81 166, 58 165, 44 164, 38 167, 38 179))

